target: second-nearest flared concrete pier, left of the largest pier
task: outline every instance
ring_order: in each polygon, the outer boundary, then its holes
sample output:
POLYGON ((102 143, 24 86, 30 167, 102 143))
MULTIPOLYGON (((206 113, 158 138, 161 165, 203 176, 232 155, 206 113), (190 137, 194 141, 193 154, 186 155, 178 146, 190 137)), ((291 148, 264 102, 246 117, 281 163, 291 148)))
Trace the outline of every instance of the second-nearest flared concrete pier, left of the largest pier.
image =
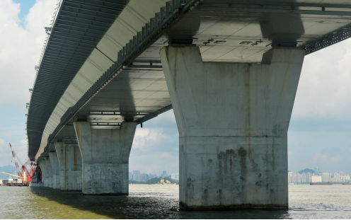
POLYGON ((128 194, 128 161, 136 122, 120 129, 91 129, 89 122, 74 122, 83 161, 83 194, 128 194))

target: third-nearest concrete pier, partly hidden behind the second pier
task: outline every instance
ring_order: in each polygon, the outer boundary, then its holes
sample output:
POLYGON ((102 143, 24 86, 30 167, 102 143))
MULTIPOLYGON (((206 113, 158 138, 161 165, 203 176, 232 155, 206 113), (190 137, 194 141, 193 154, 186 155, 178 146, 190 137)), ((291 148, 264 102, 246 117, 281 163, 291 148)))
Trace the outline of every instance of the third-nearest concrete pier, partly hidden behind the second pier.
POLYGON ((55 148, 59 159, 60 190, 81 191, 81 152, 78 145, 56 142, 55 148))

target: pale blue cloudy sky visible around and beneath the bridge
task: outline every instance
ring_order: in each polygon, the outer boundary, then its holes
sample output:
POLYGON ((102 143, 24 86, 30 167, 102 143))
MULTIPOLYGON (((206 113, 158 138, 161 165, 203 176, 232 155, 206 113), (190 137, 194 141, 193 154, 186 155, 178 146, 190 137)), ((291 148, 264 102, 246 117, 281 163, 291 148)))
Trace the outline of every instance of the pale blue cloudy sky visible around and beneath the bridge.
MULTIPOLYGON (((11 165, 8 143, 24 162, 25 103, 57 0, 0 1, 0 166, 11 165)), ((351 172, 351 40, 305 57, 288 132, 289 170, 315 166, 351 172)), ((178 173, 173 110, 138 126, 130 171, 178 173)), ((13 163, 12 163, 13 165, 13 163)))

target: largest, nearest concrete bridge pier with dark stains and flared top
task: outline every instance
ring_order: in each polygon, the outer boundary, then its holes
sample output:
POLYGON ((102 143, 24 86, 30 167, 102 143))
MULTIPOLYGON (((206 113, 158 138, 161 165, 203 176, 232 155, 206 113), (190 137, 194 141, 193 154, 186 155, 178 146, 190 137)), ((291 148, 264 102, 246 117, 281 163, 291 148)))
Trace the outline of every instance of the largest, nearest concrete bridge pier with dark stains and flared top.
POLYGON ((180 207, 288 209, 287 130, 304 50, 262 64, 203 63, 198 47, 160 51, 179 130, 180 207))

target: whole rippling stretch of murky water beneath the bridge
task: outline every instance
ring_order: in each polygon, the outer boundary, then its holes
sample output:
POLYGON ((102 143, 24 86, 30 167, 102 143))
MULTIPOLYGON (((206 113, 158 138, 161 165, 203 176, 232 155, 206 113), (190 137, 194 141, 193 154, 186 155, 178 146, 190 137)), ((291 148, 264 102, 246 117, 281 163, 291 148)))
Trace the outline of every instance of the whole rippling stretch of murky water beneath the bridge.
POLYGON ((0 187, 0 219, 350 219, 351 187, 289 185, 289 211, 181 212, 178 186, 130 185, 129 196, 0 187), (343 199, 340 199, 343 195, 343 199), (321 203, 323 202, 323 203, 321 203))

